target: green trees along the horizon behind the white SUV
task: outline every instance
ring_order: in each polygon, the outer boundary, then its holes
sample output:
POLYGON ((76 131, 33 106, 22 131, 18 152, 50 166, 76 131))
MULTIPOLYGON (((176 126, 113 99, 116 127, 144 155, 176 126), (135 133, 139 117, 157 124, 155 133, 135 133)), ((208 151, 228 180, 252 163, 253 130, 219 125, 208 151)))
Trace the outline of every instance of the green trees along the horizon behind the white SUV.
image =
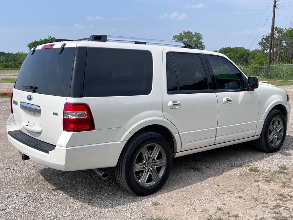
MULTIPOLYGON (((48 36, 44 39, 34 40, 27 47, 31 48, 44 44, 52 43, 56 38, 48 36)), ((183 31, 173 36, 177 42, 185 42, 196 49, 204 50, 205 44, 203 36, 195 31, 183 31)), ((229 57, 238 66, 266 66, 268 64, 268 50, 270 34, 262 35, 258 43, 259 49, 249 50, 244 47, 222 47, 216 52, 229 57)), ((274 64, 293 64, 293 27, 292 24, 287 28, 275 27, 274 34, 274 64)), ((0 69, 19 69, 27 53, 4 53, 0 52, 0 69)))

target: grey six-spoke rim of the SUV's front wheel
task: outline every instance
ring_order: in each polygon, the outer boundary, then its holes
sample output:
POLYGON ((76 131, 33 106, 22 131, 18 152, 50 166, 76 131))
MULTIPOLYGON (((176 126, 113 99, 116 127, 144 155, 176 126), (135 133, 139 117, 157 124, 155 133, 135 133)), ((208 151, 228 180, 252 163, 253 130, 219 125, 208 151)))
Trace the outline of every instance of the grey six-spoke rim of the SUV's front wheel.
POLYGON ((284 123, 281 118, 275 117, 269 126, 268 141, 270 145, 276 147, 283 139, 284 123))

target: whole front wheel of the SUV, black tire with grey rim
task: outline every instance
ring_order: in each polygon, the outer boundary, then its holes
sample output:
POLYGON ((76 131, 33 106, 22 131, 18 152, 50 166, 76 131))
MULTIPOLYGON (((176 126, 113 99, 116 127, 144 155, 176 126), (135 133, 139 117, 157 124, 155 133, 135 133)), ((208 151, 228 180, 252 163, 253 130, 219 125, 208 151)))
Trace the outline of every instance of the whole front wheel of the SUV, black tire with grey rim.
POLYGON ((263 130, 260 133, 260 138, 254 141, 255 147, 258 150, 268 153, 273 153, 280 150, 286 137, 286 131, 287 121, 284 114, 282 111, 272 109, 265 119, 263 130), (282 128, 280 128, 281 122, 283 125, 282 128), (276 124, 277 128, 274 127, 276 124))

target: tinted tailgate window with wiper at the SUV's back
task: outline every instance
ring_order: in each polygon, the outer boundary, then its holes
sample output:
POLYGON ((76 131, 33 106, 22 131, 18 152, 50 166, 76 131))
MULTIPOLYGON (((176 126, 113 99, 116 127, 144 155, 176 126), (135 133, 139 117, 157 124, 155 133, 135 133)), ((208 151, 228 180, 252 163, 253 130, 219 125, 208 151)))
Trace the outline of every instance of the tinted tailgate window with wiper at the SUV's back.
POLYGON ((35 50, 26 56, 18 73, 15 88, 36 86, 36 93, 69 97, 75 48, 35 50))

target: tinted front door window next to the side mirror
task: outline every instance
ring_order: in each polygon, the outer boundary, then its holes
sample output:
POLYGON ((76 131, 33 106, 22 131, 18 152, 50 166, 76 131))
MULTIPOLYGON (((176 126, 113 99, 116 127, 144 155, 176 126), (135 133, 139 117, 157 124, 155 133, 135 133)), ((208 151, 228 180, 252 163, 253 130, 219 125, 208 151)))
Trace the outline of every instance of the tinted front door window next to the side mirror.
POLYGON ((224 57, 207 55, 214 72, 217 89, 243 89, 241 72, 224 57))

